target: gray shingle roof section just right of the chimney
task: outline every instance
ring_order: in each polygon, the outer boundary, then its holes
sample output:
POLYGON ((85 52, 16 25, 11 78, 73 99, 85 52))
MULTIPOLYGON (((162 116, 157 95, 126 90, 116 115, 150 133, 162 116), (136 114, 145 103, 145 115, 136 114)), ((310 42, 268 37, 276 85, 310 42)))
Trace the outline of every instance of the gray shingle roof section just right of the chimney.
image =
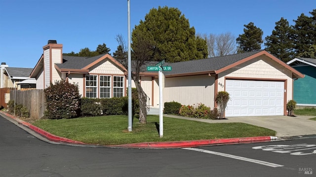
POLYGON ((98 55, 95 57, 74 57, 63 55, 63 63, 56 64, 60 69, 77 69, 80 70, 83 67, 93 63, 105 54, 98 55))

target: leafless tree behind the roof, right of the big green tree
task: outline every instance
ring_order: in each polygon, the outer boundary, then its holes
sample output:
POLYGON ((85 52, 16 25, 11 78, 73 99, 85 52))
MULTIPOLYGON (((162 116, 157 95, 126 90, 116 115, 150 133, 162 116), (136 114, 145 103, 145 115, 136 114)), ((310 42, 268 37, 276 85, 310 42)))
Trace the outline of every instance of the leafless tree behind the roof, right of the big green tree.
POLYGON ((224 33, 220 35, 214 34, 198 34, 198 36, 206 39, 208 57, 218 57, 236 53, 235 36, 232 33, 224 33))

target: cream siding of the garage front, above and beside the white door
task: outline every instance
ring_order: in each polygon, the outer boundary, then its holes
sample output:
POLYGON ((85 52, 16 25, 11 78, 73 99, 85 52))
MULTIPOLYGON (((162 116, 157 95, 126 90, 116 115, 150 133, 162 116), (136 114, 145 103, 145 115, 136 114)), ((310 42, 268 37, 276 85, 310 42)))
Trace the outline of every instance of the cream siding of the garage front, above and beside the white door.
MULTIPOLYGON (((287 100, 292 99, 292 72, 285 70, 278 63, 266 56, 260 56, 251 61, 238 65, 218 75, 218 83, 225 84, 225 77, 258 78, 258 79, 286 79, 287 100)), ((218 87, 224 91, 225 87, 218 87)))

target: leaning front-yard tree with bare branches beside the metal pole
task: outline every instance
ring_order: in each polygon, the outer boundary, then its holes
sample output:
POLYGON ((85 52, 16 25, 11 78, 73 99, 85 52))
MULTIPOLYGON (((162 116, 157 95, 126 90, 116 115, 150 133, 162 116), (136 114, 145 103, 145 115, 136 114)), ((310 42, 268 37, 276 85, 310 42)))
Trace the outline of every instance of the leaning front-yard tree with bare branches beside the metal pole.
MULTIPOLYGON (((122 47, 124 53, 127 53, 127 47, 125 40, 123 39, 122 35, 117 35, 116 40, 118 41, 118 45, 122 47)), ((153 60, 153 48, 155 48, 145 37, 141 35, 136 35, 133 38, 134 42, 132 44, 132 79, 135 82, 135 86, 138 92, 138 100, 139 100, 139 122, 146 123, 147 122, 147 109, 146 109, 146 102, 147 102, 147 95, 142 89, 140 84, 140 73, 145 71, 145 66, 153 60)), ((118 60, 125 68, 127 68, 127 55, 121 60, 118 60)))

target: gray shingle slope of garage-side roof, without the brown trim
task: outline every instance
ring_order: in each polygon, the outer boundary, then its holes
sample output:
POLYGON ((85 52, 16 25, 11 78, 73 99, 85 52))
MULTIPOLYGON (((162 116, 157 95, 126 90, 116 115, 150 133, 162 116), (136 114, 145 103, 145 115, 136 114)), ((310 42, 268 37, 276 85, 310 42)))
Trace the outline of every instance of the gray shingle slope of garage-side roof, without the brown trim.
POLYGON ((256 50, 253 52, 225 55, 214 58, 200 59, 200 60, 190 60, 178 63, 165 63, 163 66, 171 66, 171 71, 164 71, 165 75, 170 74, 183 74, 192 72, 202 72, 202 71, 216 71, 239 60, 247 58, 251 55, 259 53, 263 50, 256 50))

